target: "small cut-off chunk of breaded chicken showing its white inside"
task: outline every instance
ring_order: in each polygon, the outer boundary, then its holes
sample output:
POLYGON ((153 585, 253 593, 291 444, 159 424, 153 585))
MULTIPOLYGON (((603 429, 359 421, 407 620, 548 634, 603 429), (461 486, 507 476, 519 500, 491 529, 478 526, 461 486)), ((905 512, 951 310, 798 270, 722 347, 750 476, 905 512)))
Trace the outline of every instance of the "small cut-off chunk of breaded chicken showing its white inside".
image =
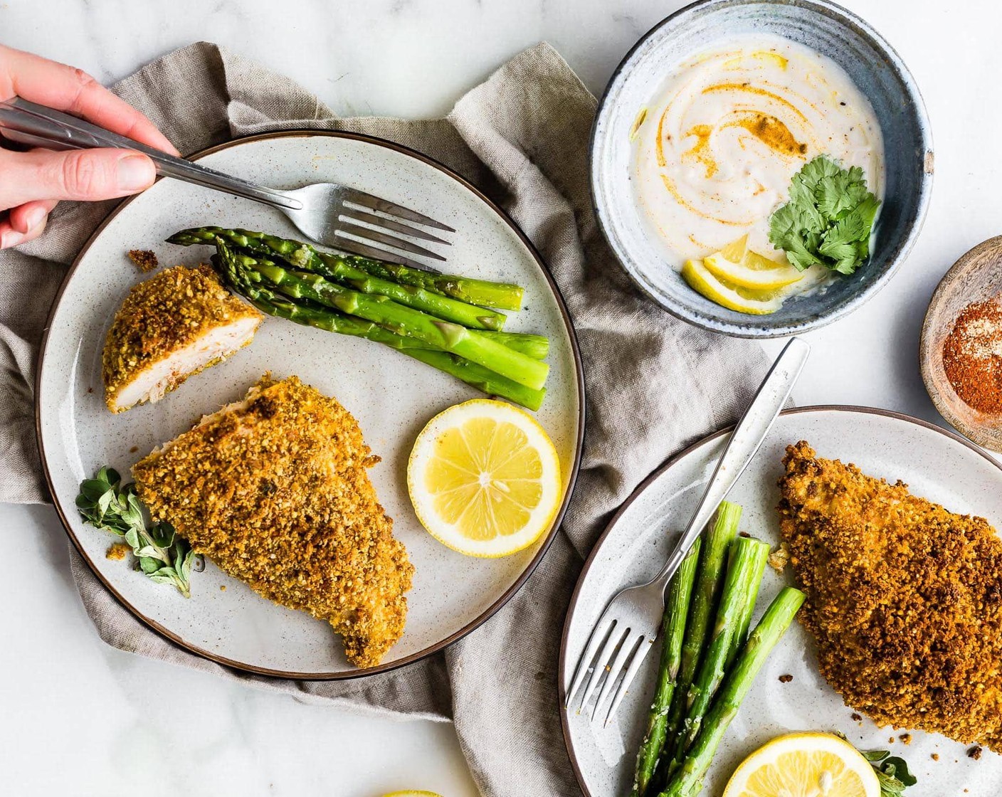
POLYGON ((124 412, 163 398, 250 343, 263 318, 208 266, 175 266, 133 286, 104 343, 108 409, 124 412))

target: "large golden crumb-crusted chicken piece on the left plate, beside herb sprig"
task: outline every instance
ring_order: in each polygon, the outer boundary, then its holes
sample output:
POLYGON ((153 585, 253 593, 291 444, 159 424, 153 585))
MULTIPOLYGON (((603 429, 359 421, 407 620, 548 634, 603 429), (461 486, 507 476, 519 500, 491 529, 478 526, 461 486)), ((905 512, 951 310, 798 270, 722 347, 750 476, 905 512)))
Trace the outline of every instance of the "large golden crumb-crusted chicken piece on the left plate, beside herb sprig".
POLYGON ((400 639, 413 565, 366 469, 355 418, 297 377, 266 376, 132 468, 139 497, 230 575, 327 620, 374 667, 400 639))

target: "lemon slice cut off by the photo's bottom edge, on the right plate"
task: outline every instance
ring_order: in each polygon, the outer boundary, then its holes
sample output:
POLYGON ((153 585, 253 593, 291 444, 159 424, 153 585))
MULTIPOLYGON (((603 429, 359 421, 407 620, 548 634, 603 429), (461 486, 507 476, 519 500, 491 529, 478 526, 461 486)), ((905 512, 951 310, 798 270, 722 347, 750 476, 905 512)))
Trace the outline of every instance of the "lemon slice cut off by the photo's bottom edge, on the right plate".
POLYGON ((880 797, 870 762, 834 734, 788 734, 760 747, 727 781, 723 797, 880 797))

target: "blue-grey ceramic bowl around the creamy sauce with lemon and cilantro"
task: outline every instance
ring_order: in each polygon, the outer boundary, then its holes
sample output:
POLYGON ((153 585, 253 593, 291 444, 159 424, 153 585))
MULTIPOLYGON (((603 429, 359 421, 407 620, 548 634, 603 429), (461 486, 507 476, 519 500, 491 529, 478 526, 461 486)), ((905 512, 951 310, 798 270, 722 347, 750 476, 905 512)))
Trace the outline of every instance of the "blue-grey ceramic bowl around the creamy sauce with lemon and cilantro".
POLYGON ((907 67, 866 22, 818 0, 701 0, 656 25, 627 53, 602 97, 591 139, 591 188, 605 237, 653 301, 704 329, 774 338, 829 324, 874 296, 911 251, 929 205, 933 151, 925 105, 907 67), (884 135, 885 200, 870 260, 824 292, 748 316, 697 294, 646 232, 630 186, 630 128, 671 69, 746 34, 782 36, 838 63, 865 94, 884 135))

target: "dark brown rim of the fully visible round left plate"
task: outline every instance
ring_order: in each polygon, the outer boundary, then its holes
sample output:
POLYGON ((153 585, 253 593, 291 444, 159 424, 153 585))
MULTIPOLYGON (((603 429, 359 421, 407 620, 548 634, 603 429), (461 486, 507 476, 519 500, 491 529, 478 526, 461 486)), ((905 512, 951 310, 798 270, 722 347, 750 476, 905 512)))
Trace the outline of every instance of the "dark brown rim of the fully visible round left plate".
MULTIPOLYGON (((556 537, 560 525, 563 522, 564 515, 567 512, 567 507, 570 504, 571 496, 574 493, 574 487, 577 484, 577 477, 581 466, 581 455, 584 445, 584 425, 585 425, 585 385, 584 385, 584 369, 581 360, 581 351, 578 345, 577 332, 574 329, 573 322, 570 317, 570 313, 567 310, 567 303, 564 301, 563 294, 560 292, 560 288, 557 286, 556 281, 553 279, 553 275, 550 273, 549 268, 546 266, 546 262, 543 260, 539 251, 525 235, 522 229, 515 224, 514 220, 502 209, 497 203, 487 196, 480 188, 470 182, 468 179, 463 177, 461 174, 456 172, 454 169, 445 165, 444 163, 436 160, 429 155, 419 152, 412 147, 406 146, 404 144, 397 143, 396 141, 391 141, 386 138, 380 138, 375 135, 367 135, 365 133, 353 132, 348 130, 321 130, 321 129, 310 129, 310 128, 292 128, 288 130, 272 130, 269 132, 253 133, 250 135, 240 136, 238 138, 232 138, 227 141, 223 141, 218 144, 213 144, 212 146, 199 149, 191 155, 188 155, 189 160, 198 160, 206 155, 213 154, 215 152, 229 149, 232 147, 239 146, 245 143, 253 143, 256 141, 269 140, 273 138, 304 138, 304 137, 328 137, 328 138, 345 138, 349 140, 362 141, 364 143, 373 144, 376 146, 381 146, 399 152, 405 156, 416 158, 417 160, 423 161, 427 165, 438 169, 447 176, 456 180, 462 187, 467 188, 472 191, 473 194, 484 203, 504 224, 516 235, 516 237, 522 242, 522 244, 527 248, 533 261, 535 261, 536 266, 539 268, 543 277, 546 279, 549 285, 550 291, 556 300, 557 307, 560 310, 560 316, 563 319, 564 328, 567 332, 568 338, 570 339, 570 349, 572 359, 574 361, 574 384, 577 388, 578 397, 578 410, 577 410, 577 437, 574 440, 574 456, 573 462, 570 467, 570 473, 567 481, 567 490, 564 494, 563 501, 560 504, 560 508, 554 515, 553 523, 550 528, 549 533, 545 540, 543 540, 542 545, 540 545, 539 550, 532 557, 529 563, 526 565, 525 569, 519 574, 515 581, 501 593, 501 595, 491 604, 484 612, 478 615, 470 623, 467 623, 458 631, 453 632, 447 636, 444 640, 440 640, 434 645, 429 646, 421 651, 406 656, 403 659, 394 662, 388 662, 386 664, 380 664, 376 667, 345 670, 343 672, 330 672, 330 673, 298 673, 295 671, 285 671, 276 670, 267 667, 258 667, 253 664, 247 664, 245 662, 237 662, 232 659, 228 659, 224 656, 212 653, 211 651, 206 651, 199 648, 196 645, 185 642, 181 637, 179 637, 174 632, 157 623, 152 618, 148 618, 143 615, 138 609, 133 607, 127 599, 125 599, 114 586, 108 582, 104 576, 101 574, 100 570, 94 565, 90 556, 87 555, 83 548, 83 545, 77 539, 70 523, 67 520, 66 514, 64 512, 63 506, 60 504, 56 492, 53 488, 52 475, 49 472, 48 459, 45 455, 45 444, 42 440, 42 413, 41 413, 41 382, 42 382, 42 371, 45 365, 45 352, 48 348, 49 343, 49 332, 52 328, 52 322, 55 318, 56 313, 62 304, 63 295, 69 285, 70 280, 75 274, 80 262, 83 260, 84 256, 90 250, 91 246, 97 240, 98 236, 104 232, 104 229, 114 220, 118 214, 120 214, 126 206, 128 206, 136 196, 141 194, 133 194, 132 196, 125 197, 121 203, 115 206, 114 209, 101 221, 93 233, 88 236, 87 240, 84 242, 83 246, 80 248, 79 253, 73 259, 69 268, 66 271, 66 275, 63 277, 62 283, 59 286, 59 290, 56 293, 55 299, 52 301, 52 307, 49 310, 48 317, 45 321, 45 327, 42 332, 42 339, 39 344, 38 358, 36 360, 35 366, 35 379, 34 379, 34 415, 35 415, 35 441, 38 447, 39 460, 42 466, 42 472, 45 476, 45 485, 48 489, 49 496, 52 499, 52 505, 56 510, 56 514, 59 516, 59 522, 69 537, 70 542, 72 542, 73 547, 76 549, 77 553, 86 563, 90 571, 97 577, 101 582, 102 586, 111 593, 111 595, 118 602, 120 606, 126 609, 134 618, 136 618, 140 623, 142 623, 146 628, 153 631, 160 638, 165 640, 167 643, 173 645, 176 648, 193 654, 201 659, 206 659, 208 661, 214 662, 216 664, 222 665, 223 667, 236 670, 241 673, 248 673, 250 675, 265 676, 268 678, 284 678, 292 679, 295 681, 350 681, 356 678, 366 678, 368 676, 375 676, 381 673, 388 673, 393 670, 397 670, 407 665, 415 664, 423 659, 427 659, 440 651, 445 650, 453 643, 458 642, 463 637, 472 633, 476 629, 480 628, 484 623, 494 617, 515 594, 521 589, 529 576, 535 571, 536 567, 539 566, 540 561, 542 561, 543 556, 546 551, 549 550, 554 538, 556 537)), ((163 179, 163 177, 158 177, 157 182, 163 179)), ((264 600, 264 599, 263 599, 264 600)))

